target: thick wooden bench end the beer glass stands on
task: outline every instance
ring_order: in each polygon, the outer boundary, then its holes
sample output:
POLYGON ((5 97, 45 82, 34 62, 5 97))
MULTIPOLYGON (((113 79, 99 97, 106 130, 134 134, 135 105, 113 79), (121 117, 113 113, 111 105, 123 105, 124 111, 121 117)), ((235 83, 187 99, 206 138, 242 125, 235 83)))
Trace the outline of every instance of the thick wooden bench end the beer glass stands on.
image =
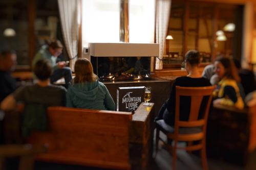
POLYGON ((132 169, 147 169, 153 154, 154 103, 138 107, 130 128, 130 162, 132 169))

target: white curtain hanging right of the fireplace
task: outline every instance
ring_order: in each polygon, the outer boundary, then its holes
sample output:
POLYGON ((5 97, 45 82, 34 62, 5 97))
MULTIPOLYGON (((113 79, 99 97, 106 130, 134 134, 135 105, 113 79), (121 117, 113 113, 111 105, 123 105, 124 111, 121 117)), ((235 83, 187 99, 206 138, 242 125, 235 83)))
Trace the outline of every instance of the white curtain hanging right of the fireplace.
POLYGON ((160 44, 159 58, 156 58, 156 69, 163 68, 163 51, 168 29, 171 0, 156 0, 156 42, 160 44))

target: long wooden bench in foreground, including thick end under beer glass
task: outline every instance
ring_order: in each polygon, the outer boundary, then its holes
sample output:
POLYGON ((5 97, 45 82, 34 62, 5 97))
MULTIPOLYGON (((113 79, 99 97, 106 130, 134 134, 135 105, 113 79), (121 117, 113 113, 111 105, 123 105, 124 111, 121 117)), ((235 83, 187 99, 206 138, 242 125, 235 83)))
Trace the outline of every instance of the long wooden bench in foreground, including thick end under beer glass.
MULTIPOLYGON (((154 104, 153 104, 154 106, 154 104)), ((146 169, 152 158, 153 106, 130 112, 49 107, 48 132, 32 144, 49 144, 36 160, 114 169, 146 169)))

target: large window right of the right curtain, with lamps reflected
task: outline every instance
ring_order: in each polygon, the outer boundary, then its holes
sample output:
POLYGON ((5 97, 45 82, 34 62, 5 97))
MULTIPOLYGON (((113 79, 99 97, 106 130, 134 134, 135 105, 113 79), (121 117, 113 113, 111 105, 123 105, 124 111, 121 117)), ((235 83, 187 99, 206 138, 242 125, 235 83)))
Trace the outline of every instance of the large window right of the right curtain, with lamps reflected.
POLYGON ((173 1, 167 32, 173 39, 166 40, 164 63, 181 64, 194 49, 206 63, 219 54, 241 57, 242 11, 238 5, 173 1))

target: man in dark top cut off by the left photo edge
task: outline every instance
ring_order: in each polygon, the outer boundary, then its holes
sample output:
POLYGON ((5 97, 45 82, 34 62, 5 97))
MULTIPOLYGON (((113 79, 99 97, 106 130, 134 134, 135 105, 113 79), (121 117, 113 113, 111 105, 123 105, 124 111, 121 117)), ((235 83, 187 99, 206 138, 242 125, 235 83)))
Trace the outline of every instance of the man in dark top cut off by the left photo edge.
POLYGON ((16 89, 16 80, 11 77, 16 58, 14 51, 3 51, 0 54, 0 102, 16 89))

